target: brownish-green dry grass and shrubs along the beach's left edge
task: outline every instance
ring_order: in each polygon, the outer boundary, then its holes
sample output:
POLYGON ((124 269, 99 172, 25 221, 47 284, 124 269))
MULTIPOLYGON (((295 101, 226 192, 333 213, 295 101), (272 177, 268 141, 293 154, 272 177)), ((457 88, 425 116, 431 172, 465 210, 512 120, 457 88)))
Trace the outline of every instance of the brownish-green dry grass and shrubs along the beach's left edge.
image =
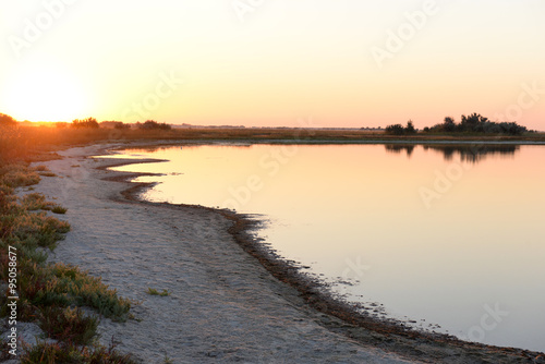
MULTIPOLYGON (((22 355, 24 363, 131 363, 128 357, 117 355, 111 350, 85 345, 96 335, 97 318, 83 315, 77 306, 94 308, 99 314, 117 320, 124 320, 131 303, 119 298, 116 290, 105 286, 77 267, 64 264, 46 264, 47 254, 43 248, 53 250, 57 242, 70 230, 70 225, 45 211, 64 214, 65 208, 48 202, 44 195, 29 193, 23 197, 15 195, 15 189, 39 182, 37 171, 44 167, 28 168, 19 158, 5 158, 0 165, 0 281, 9 276, 9 246, 17 252, 16 290, 17 320, 37 321, 48 338, 57 344, 27 348, 22 355), (46 360, 47 357, 47 360, 46 360)), ((7 295, 0 295, 0 317, 8 315, 7 295)), ((3 340, 2 340, 3 342, 3 340)), ((2 344, 2 355, 5 345, 2 344)))

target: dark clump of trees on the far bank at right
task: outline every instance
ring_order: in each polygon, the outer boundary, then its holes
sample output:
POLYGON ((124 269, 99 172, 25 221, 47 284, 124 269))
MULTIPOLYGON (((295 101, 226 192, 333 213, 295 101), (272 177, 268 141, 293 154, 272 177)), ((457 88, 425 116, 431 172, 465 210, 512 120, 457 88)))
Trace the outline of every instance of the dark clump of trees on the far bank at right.
MULTIPOLYGON (((488 120, 479 113, 470 116, 462 116, 459 123, 451 117, 446 117, 445 121, 432 128, 424 128, 424 133, 465 133, 465 134, 497 134, 497 135, 522 135, 528 133, 525 126, 519 125, 516 122, 495 122, 488 120)), ((407 123, 403 128, 401 124, 388 125, 386 128, 387 134, 407 135, 415 134, 412 121, 407 123)))

